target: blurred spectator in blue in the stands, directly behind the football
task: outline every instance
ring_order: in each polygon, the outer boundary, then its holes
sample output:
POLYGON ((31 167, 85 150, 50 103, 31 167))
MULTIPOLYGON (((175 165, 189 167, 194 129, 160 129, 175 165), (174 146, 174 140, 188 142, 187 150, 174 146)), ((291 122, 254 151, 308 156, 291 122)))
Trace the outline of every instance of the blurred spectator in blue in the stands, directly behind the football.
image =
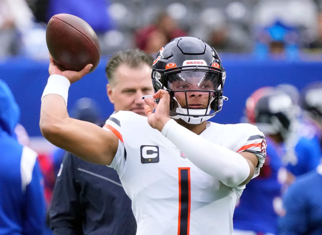
POLYGON ((104 42, 105 33, 116 25, 108 13, 109 0, 48 0, 47 22, 59 13, 76 15, 86 21, 96 32, 101 54, 105 55, 108 46, 104 42))

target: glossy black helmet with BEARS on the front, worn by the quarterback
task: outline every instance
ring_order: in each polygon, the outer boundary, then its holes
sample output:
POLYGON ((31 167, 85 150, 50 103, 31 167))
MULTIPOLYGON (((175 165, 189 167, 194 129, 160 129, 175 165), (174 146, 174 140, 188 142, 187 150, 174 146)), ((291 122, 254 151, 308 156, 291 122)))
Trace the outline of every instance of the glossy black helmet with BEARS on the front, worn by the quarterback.
POLYGON ((225 78, 225 69, 215 49, 196 37, 172 39, 160 49, 153 62, 155 92, 168 90, 170 116, 191 124, 201 123, 222 109, 223 99, 227 100, 223 96, 225 78), (207 107, 188 104, 188 96, 193 92, 208 97, 207 107), (183 107, 177 100, 180 93, 185 95, 183 107))

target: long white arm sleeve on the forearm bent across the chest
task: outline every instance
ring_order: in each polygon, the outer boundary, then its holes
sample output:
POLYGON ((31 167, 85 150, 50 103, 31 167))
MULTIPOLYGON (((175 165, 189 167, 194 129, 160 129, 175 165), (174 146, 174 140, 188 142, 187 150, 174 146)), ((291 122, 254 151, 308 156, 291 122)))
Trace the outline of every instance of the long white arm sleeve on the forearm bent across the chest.
POLYGON ((211 143, 177 124, 173 119, 163 127, 162 135, 184 152, 199 169, 227 186, 238 186, 249 177, 250 167, 242 155, 211 143))

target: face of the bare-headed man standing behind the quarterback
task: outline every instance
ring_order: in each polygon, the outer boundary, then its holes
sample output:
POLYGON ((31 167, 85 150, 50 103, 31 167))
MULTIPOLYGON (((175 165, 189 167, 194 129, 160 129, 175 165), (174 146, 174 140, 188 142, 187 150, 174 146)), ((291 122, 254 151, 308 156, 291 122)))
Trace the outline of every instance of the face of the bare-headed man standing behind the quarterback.
POLYGON ((106 88, 115 111, 132 111, 145 116, 145 102, 142 96, 154 94, 151 67, 142 64, 138 68, 130 68, 121 64, 115 71, 115 85, 111 87, 107 84, 106 88))

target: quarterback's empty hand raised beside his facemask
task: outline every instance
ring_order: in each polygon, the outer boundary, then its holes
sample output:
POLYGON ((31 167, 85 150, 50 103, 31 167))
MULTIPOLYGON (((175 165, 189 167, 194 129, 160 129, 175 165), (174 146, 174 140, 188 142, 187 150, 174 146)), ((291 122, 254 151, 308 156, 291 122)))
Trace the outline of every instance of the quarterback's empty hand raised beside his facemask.
POLYGON ((171 120, 169 118, 170 111, 170 95, 168 91, 160 89, 153 95, 152 99, 146 100, 147 105, 144 107, 145 114, 147 115, 147 122, 149 125, 160 132, 164 125, 171 120), (154 99, 160 99, 159 103, 156 104, 154 99), (153 110, 155 111, 153 112, 153 110))

